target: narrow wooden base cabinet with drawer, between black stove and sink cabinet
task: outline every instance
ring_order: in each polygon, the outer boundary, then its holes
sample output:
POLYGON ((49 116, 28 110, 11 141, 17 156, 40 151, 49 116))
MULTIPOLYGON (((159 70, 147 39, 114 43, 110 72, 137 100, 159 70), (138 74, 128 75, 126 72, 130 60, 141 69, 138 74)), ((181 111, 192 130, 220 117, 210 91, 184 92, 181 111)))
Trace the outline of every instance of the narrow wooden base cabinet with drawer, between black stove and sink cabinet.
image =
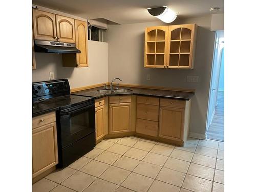
POLYGON ((108 97, 105 97, 95 100, 96 141, 108 135, 108 130, 108 97))

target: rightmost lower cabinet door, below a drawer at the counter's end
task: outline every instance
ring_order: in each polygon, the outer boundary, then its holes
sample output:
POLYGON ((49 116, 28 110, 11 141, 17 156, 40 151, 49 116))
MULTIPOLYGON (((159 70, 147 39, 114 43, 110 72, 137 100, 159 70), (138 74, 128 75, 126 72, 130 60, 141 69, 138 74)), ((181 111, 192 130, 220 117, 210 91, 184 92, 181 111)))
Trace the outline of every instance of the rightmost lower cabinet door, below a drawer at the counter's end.
POLYGON ((159 137, 183 140, 184 109, 160 106, 159 112, 159 137))

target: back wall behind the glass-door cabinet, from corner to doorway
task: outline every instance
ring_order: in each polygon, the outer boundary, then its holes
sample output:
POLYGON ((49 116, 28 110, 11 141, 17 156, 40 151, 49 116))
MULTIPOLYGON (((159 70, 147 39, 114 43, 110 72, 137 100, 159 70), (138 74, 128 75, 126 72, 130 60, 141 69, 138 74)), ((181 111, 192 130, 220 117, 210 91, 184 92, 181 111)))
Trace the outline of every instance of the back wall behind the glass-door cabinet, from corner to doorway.
POLYGON ((120 77, 122 83, 172 88, 195 89, 192 100, 190 136, 205 138, 209 84, 214 51, 215 32, 210 31, 211 17, 176 20, 175 24, 196 23, 198 27, 195 68, 144 68, 144 30, 148 26, 166 25, 162 22, 109 25, 106 37, 109 44, 109 81, 120 77), (151 80, 146 75, 151 74, 151 80), (186 82, 187 75, 199 76, 199 82, 186 82))

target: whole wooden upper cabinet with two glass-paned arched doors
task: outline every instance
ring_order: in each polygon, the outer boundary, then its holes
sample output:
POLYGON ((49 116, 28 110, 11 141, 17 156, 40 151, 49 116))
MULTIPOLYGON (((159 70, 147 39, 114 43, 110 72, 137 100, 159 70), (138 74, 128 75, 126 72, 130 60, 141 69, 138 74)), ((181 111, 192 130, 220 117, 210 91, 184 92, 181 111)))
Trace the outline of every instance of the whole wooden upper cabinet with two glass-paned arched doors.
POLYGON ((145 68, 193 69, 196 24, 145 29, 145 68))

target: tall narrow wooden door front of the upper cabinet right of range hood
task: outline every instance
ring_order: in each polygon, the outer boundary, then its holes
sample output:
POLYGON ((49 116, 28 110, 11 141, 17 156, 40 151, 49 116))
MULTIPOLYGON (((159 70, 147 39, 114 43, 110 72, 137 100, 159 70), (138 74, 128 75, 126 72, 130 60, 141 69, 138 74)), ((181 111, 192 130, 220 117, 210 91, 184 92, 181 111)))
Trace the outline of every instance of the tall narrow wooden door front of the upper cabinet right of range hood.
POLYGON ((77 67, 88 67, 87 33, 87 22, 75 20, 76 48, 81 51, 76 54, 77 67))

